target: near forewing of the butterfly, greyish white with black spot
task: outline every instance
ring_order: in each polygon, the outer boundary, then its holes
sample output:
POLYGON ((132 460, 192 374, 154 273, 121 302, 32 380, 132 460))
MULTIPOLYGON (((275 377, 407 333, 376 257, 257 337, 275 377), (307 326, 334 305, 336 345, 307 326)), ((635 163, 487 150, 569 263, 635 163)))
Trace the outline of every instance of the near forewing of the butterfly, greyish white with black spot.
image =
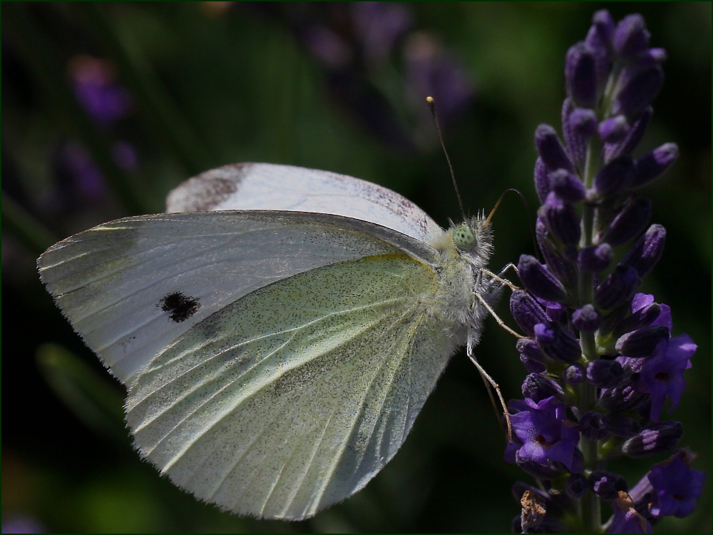
POLYGON ((40 274, 75 329, 130 383, 179 335, 259 287, 322 265, 428 246, 378 225, 269 211, 158 214, 53 245, 40 274))

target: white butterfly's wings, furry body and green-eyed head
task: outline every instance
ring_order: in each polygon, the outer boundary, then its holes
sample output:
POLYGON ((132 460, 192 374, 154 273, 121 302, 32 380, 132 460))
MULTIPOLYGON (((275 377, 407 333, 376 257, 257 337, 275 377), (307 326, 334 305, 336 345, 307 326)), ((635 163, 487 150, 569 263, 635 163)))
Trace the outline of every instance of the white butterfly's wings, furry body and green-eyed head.
POLYGON ((287 165, 227 165, 168 213, 38 260, 128 388, 135 446, 198 498, 304 519, 394 457, 499 292, 483 215, 448 231, 401 195, 287 165))

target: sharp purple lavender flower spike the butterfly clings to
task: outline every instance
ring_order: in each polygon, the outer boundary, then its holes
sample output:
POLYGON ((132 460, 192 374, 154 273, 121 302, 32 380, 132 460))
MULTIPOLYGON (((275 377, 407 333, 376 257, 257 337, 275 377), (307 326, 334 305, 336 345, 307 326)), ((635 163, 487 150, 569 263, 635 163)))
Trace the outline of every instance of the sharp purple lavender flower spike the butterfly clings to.
POLYGON ((651 49, 650 38, 642 16, 615 24, 597 11, 565 58, 564 143, 552 126, 535 130, 535 235, 545 264, 520 256, 525 290, 511 297, 529 374, 525 399, 508 404, 506 460, 571 500, 561 508, 545 501, 542 526, 581 515, 570 528, 650 533, 660 516, 694 509, 705 477, 689 468, 692 454, 674 455, 652 467, 646 491, 640 482, 630 496, 624 477, 605 467, 677 447, 682 425, 659 419, 667 398, 669 412, 678 406, 697 349, 688 335, 672 336, 670 307, 637 293, 666 238, 661 225, 647 228, 652 204, 638 192, 678 156, 665 143, 632 158, 664 78, 666 53, 651 49), (600 501, 614 510, 604 526, 600 501))

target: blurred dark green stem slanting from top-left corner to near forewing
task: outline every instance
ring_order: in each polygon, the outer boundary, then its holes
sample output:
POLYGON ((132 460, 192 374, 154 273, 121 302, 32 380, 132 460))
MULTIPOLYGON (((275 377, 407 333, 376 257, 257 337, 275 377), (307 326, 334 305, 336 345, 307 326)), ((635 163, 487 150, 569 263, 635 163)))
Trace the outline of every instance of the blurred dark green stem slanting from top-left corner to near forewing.
POLYGON ((25 9, 26 6, 14 2, 3 6, 6 23, 3 29, 9 32, 32 75, 41 84, 57 126, 78 138, 89 149, 111 190, 128 213, 150 211, 143 203, 145 196, 138 193, 138 186, 114 162, 111 141, 106 133, 96 128, 74 98, 67 76, 59 67, 62 62, 56 56, 56 46, 46 38, 25 9))

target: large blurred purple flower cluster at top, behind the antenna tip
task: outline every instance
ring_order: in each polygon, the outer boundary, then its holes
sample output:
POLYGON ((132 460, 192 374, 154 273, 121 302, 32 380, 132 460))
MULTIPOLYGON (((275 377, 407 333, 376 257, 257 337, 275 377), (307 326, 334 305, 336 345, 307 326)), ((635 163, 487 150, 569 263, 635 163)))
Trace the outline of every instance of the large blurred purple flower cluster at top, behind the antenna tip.
POLYGON ((436 98, 444 128, 472 101, 458 57, 434 34, 409 32, 415 21, 409 4, 250 3, 244 9, 287 24, 324 69, 335 103, 397 151, 438 146, 426 96, 436 98))

